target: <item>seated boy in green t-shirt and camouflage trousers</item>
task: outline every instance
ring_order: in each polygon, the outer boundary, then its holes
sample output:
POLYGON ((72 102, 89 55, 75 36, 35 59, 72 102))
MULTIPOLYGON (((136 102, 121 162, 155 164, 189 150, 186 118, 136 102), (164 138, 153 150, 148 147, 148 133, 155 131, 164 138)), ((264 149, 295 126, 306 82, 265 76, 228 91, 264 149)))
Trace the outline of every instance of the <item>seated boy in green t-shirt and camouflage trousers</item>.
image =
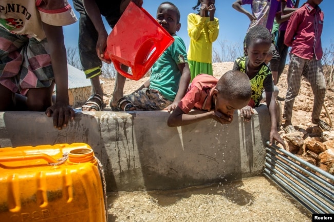
POLYGON ((157 22, 174 37, 174 42, 153 65, 150 79, 118 100, 121 110, 172 111, 187 91, 190 83, 187 52, 184 42, 175 34, 181 27, 178 8, 170 2, 162 3, 157 10, 157 22))

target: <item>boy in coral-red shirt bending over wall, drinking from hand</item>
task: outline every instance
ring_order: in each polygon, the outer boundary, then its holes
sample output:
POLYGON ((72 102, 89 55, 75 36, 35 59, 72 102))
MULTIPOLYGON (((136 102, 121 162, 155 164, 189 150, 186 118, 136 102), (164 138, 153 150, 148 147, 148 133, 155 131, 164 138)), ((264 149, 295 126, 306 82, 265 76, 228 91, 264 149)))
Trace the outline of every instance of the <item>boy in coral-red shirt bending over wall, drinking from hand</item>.
POLYGON ((184 126, 204 119, 230 124, 234 111, 246 106, 251 94, 249 78, 243 72, 231 70, 219 80, 208 74, 197 75, 168 118, 168 126, 184 126), (193 108, 206 112, 188 114, 193 108))

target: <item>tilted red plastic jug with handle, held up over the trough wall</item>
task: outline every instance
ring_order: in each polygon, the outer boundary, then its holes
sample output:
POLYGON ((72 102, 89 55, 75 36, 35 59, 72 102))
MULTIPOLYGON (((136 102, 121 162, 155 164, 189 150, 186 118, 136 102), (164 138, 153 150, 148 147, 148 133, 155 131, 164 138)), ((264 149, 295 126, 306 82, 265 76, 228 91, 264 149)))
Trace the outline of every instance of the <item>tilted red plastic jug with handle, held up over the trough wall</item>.
POLYGON ((138 80, 173 42, 155 18, 131 2, 110 32, 104 56, 121 75, 138 80), (130 67, 132 74, 124 72, 121 64, 130 67))

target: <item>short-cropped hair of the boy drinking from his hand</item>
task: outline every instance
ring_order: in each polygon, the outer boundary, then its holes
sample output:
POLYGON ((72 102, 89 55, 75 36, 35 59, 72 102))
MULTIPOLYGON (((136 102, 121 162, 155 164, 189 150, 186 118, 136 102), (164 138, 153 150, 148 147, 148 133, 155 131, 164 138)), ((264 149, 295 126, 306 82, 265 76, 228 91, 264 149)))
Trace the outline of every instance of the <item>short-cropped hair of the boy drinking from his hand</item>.
POLYGON ((249 77, 240 71, 230 70, 222 75, 216 85, 218 95, 232 100, 249 100, 252 96, 252 89, 249 77))

